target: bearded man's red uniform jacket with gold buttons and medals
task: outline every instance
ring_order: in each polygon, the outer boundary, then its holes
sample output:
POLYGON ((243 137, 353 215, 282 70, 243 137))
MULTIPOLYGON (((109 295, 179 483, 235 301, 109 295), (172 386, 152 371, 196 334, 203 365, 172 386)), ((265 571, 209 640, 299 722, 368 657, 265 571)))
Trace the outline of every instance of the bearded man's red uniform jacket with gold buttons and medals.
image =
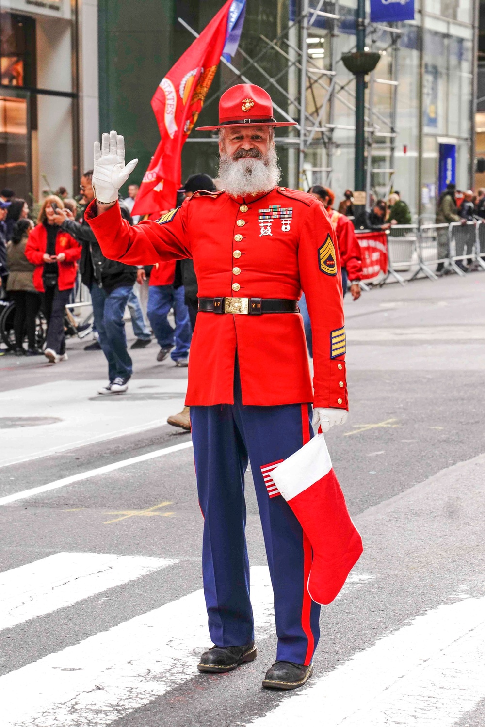
POLYGON ((342 281, 334 230, 315 197, 282 187, 257 197, 198 192, 159 222, 130 227, 116 204, 85 219, 103 254, 131 265, 193 258, 199 297, 297 300, 313 329, 313 395, 299 313, 199 313, 188 369, 188 406, 233 403, 239 358, 242 401, 313 401, 347 409, 342 281))

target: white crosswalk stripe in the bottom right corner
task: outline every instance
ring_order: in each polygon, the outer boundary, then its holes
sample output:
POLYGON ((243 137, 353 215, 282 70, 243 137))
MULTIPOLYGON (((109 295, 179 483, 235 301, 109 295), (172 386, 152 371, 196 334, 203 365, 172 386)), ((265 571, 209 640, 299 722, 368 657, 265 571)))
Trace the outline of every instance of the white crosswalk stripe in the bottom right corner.
POLYGON ((484 697, 485 598, 467 598, 418 616, 249 724, 318 715, 325 727, 452 727, 484 697))

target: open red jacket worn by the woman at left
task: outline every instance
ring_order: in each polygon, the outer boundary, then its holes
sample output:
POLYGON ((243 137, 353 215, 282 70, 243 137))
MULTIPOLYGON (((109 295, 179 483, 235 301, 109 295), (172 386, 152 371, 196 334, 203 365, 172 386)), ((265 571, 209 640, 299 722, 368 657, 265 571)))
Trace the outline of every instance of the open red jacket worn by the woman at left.
MULTIPOLYGON (((25 257, 29 262, 33 262, 36 269, 33 271, 33 284, 39 293, 44 292, 44 281, 42 281, 42 272, 44 270, 43 255, 47 248, 47 230, 40 223, 36 225, 28 236, 25 245, 25 257)), ((57 287, 59 290, 69 290, 74 287, 76 281, 76 273, 78 265, 76 260, 81 257, 81 246, 67 232, 59 230, 55 241, 55 254, 61 252, 65 254, 63 262, 57 262, 59 270, 57 278, 57 287)))

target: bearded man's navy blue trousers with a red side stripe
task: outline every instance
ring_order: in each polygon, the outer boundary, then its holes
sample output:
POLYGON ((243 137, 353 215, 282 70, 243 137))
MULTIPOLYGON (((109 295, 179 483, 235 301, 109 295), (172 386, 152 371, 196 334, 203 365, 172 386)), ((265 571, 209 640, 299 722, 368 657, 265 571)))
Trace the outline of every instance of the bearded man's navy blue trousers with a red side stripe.
POLYGON ((310 664, 320 635, 320 606, 306 588, 310 543, 283 497, 268 496, 260 467, 286 459, 313 436, 311 406, 243 406, 237 369, 234 394, 233 405, 191 406, 209 632, 216 646, 241 646, 254 638, 244 534, 249 458, 273 584, 276 659, 310 664))

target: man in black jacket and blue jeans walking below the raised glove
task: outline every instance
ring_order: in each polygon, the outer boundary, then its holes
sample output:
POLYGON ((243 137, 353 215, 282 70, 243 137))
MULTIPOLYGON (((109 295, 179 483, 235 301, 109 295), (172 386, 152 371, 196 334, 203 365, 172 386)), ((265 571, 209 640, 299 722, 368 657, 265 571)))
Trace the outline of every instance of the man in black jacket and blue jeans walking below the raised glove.
MULTIPOLYGON (((82 175, 80 190, 81 201, 87 206, 95 198, 92 169, 82 175)), ((99 393, 124 393, 133 373, 133 364, 127 350, 123 316, 137 278, 137 268, 108 260, 84 217, 81 222, 76 222, 72 212, 64 209, 57 214, 57 220, 61 229, 82 245, 81 280, 91 291, 95 326, 108 360, 109 382, 99 389, 99 393)))

